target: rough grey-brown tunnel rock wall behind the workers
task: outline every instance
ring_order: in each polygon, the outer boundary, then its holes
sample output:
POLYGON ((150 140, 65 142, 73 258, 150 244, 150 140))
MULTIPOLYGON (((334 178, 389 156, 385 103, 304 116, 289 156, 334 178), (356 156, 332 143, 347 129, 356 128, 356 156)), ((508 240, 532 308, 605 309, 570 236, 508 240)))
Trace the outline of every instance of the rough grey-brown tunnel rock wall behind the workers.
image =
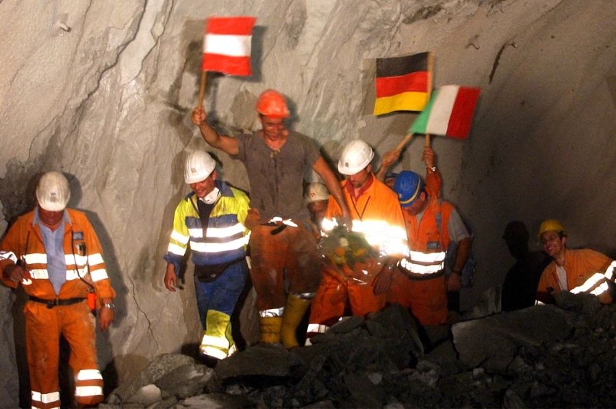
MULTIPOLYGON (((372 116, 376 57, 433 51, 435 86, 483 89, 469 140, 433 138, 444 196, 476 237, 466 304, 502 282, 513 218, 533 231, 560 217, 575 244, 613 250, 602 222, 616 197, 612 1, 5 0, 0 205, 13 220, 33 205, 39 172, 69 176, 69 206, 88 211, 118 291, 99 356, 120 379, 199 337, 190 269, 179 294, 162 285, 172 214, 189 192, 186 153, 209 150, 224 179, 248 189, 244 166, 190 122, 209 15, 257 16, 253 77, 208 75, 205 109, 225 133, 258 129, 256 96, 277 88, 291 126, 326 157, 359 137, 378 167, 415 114, 372 116)), ((423 174, 422 144, 415 137, 394 170, 423 174)))

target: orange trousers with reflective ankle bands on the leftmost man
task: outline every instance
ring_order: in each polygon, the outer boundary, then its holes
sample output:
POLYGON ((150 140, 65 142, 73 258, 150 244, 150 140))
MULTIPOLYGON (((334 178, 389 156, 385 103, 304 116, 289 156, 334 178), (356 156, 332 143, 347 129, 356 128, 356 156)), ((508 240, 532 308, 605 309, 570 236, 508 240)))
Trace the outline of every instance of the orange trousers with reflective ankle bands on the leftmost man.
POLYGON ((60 407, 57 379, 60 336, 70 345, 68 365, 75 375, 75 401, 94 405, 103 401, 103 378, 97 365, 94 316, 86 302, 67 306, 29 301, 25 304, 25 332, 32 406, 60 407))

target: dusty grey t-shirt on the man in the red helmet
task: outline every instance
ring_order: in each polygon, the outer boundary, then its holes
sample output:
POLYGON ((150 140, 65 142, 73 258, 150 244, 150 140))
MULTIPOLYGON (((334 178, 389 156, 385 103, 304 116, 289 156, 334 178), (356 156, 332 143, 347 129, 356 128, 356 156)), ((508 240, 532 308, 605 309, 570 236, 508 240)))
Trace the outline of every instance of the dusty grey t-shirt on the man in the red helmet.
POLYGON ((251 207, 259 209, 261 219, 309 219, 303 180, 305 170, 311 169, 320 156, 314 142, 289 131, 285 144, 274 150, 257 133, 236 138, 240 150, 236 158, 244 162, 251 183, 251 207))

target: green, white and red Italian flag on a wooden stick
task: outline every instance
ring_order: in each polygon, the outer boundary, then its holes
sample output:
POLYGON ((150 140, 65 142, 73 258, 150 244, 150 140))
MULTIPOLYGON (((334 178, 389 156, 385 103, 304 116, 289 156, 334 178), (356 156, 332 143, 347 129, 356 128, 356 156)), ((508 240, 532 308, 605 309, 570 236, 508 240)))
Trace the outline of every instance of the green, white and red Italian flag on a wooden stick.
POLYGON ((430 102, 415 119, 408 133, 466 139, 480 91, 480 88, 443 85, 433 92, 430 102))

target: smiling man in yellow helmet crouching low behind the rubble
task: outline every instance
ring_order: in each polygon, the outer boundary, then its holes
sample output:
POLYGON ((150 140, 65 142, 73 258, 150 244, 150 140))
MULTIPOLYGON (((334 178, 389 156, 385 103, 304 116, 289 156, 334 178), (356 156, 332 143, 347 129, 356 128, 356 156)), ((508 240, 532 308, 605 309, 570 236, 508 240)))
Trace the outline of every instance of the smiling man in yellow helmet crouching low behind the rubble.
POLYGON ((537 300, 553 303, 560 291, 591 293, 603 304, 613 299, 608 282, 614 282, 616 262, 587 248, 567 248, 567 231, 555 219, 543 220, 537 237, 552 262, 543 270, 537 287, 537 300))

